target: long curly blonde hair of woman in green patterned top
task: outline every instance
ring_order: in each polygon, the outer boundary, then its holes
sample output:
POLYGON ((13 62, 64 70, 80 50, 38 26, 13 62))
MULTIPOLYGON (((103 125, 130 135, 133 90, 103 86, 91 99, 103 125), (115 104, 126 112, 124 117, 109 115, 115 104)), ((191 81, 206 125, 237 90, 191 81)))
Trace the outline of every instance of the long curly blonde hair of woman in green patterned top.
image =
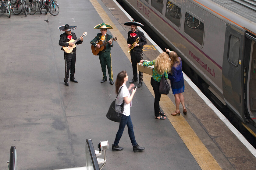
POLYGON ((168 53, 161 53, 157 58, 155 59, 155 66, 154 66, 156 72, 160 75, 162 75, 165 71, 168 73, 171 71, 171 62, 169 59, 168 53))

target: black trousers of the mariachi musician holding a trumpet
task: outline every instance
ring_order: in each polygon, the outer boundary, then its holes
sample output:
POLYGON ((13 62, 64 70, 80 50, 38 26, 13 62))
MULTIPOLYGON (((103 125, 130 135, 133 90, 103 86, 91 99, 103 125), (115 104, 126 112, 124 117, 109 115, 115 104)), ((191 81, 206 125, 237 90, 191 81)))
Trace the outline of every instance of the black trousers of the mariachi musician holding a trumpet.
MULTIPOLYGON (((142 50, 131 50, 131 61, 133 67, 133 79, 138 80, 137 76, 137 63, 140 63, 140 60, 143 60, 142 50)), ((143 73, 139 71, 139 82, 143 81, 143 73)))

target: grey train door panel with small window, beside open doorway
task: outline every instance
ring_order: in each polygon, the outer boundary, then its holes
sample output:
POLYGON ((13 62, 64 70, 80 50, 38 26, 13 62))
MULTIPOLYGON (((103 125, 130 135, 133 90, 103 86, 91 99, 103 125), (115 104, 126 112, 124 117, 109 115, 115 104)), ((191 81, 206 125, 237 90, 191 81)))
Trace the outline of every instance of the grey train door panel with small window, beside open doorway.
POLYGON ((222 89, 227 106, 244 120, 243 68, 244 32, 227 24, 222 64, 222 89))

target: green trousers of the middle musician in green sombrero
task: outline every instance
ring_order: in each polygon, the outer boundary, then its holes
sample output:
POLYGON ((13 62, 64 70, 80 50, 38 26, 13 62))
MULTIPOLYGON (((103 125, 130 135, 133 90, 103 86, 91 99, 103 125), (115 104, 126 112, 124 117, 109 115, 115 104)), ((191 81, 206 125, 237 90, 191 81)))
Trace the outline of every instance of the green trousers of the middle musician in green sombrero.
POLYGON ((101 71, 103 73, 102 79, 107 80, 107 69, 106 69, 106 66, 107 66, 109 81, 113 81, 113 71, 112 71, 112 65, 111 65, 110 51, 108 51, 108 52, 101 51, 99 54, 99 59, 100 59, 100 63, 101 63, 101 71))

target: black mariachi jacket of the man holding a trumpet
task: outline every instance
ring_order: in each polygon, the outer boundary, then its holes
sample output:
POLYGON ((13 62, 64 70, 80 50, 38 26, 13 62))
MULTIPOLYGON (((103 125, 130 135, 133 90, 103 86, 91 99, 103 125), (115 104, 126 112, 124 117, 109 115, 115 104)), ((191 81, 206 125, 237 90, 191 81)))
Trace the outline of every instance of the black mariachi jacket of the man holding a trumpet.
POLYGON ((130 36, 130 33, 132 33, 132 32, 133 32, 132 30, 130 30, 130 31, 128 32, 127 44, 132 45, 133 42, 135 42, 135 40, 136 40, 138 37, 140 37, 140 40, 139 40, 139 42, 138 42, 139 46, 136 46, 136 47, 134 47, 133 49, 134 49, 134 50, 142 50, 142 49, 143 49, 143 46, 144 46, 145 44, 147 44, 147 40, 146 40, 146 37, 144 36, 144 33, 136 29, 136 31, 135 31, 134 33, 137 34, 137 36, 136 36, 136 37, 131 37, 131 36, 130 36))

